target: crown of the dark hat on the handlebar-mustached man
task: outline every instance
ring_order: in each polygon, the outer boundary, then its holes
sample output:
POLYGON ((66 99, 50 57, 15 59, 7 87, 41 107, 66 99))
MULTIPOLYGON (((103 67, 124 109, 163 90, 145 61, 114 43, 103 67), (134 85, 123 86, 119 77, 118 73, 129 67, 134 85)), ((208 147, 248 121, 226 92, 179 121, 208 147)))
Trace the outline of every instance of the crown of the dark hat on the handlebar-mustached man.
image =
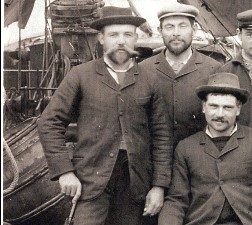
POLYGON ((130 8, 119 8, 115 6, 103 7, 100 13, 101 18, 133 15, 130 8))

